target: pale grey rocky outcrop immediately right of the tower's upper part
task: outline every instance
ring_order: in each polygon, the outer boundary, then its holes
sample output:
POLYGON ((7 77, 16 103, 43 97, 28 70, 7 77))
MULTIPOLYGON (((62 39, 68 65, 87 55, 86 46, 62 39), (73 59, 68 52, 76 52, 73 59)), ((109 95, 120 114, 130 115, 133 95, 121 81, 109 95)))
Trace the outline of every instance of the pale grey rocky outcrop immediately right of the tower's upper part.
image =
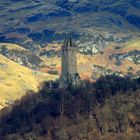
POLYGON ((103 52, 104 48, 106 48, 110 43, 122 44, 129 41, 130 39, 132 39, 131 34, 118 37, 115 33, 111 32, 106 32, 104 35, 99 32, 93 32, 92 35, 83 35, 77 41, 78 51, 86 55, 94 55, 103 52))

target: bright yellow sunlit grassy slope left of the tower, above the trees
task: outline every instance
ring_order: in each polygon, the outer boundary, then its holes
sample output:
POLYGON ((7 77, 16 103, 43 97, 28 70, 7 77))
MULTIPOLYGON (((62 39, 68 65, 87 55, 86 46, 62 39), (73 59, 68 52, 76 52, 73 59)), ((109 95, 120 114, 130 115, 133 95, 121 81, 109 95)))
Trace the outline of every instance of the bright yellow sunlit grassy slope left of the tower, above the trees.
POLYGON ((0 109, 19 99, 27 90, 37 91, 40 82, 55 78, 20 66, 0 55, 0 109))

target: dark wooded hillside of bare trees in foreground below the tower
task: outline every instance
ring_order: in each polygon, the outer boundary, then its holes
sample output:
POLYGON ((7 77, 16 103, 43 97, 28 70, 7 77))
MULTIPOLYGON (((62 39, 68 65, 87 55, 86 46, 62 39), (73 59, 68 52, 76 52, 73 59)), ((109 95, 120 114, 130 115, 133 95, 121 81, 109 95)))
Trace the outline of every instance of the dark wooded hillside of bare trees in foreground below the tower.
POLYGON ((1 111, 0 139, 140 138, 140 79, 106 76, 96 83, 83 81, 78 89, 47 84, 1 111))

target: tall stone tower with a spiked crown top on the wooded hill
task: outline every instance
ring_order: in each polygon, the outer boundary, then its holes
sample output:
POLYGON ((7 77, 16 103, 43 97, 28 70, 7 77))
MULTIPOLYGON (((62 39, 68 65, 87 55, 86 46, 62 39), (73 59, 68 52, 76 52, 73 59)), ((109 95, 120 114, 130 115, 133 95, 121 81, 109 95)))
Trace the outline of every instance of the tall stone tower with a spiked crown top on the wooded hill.
POLYGON ((65 38, 61 49, 61 78, 60 87, 77 87, 80 76, 77 73, 77 46, 71 35, 65 38))

